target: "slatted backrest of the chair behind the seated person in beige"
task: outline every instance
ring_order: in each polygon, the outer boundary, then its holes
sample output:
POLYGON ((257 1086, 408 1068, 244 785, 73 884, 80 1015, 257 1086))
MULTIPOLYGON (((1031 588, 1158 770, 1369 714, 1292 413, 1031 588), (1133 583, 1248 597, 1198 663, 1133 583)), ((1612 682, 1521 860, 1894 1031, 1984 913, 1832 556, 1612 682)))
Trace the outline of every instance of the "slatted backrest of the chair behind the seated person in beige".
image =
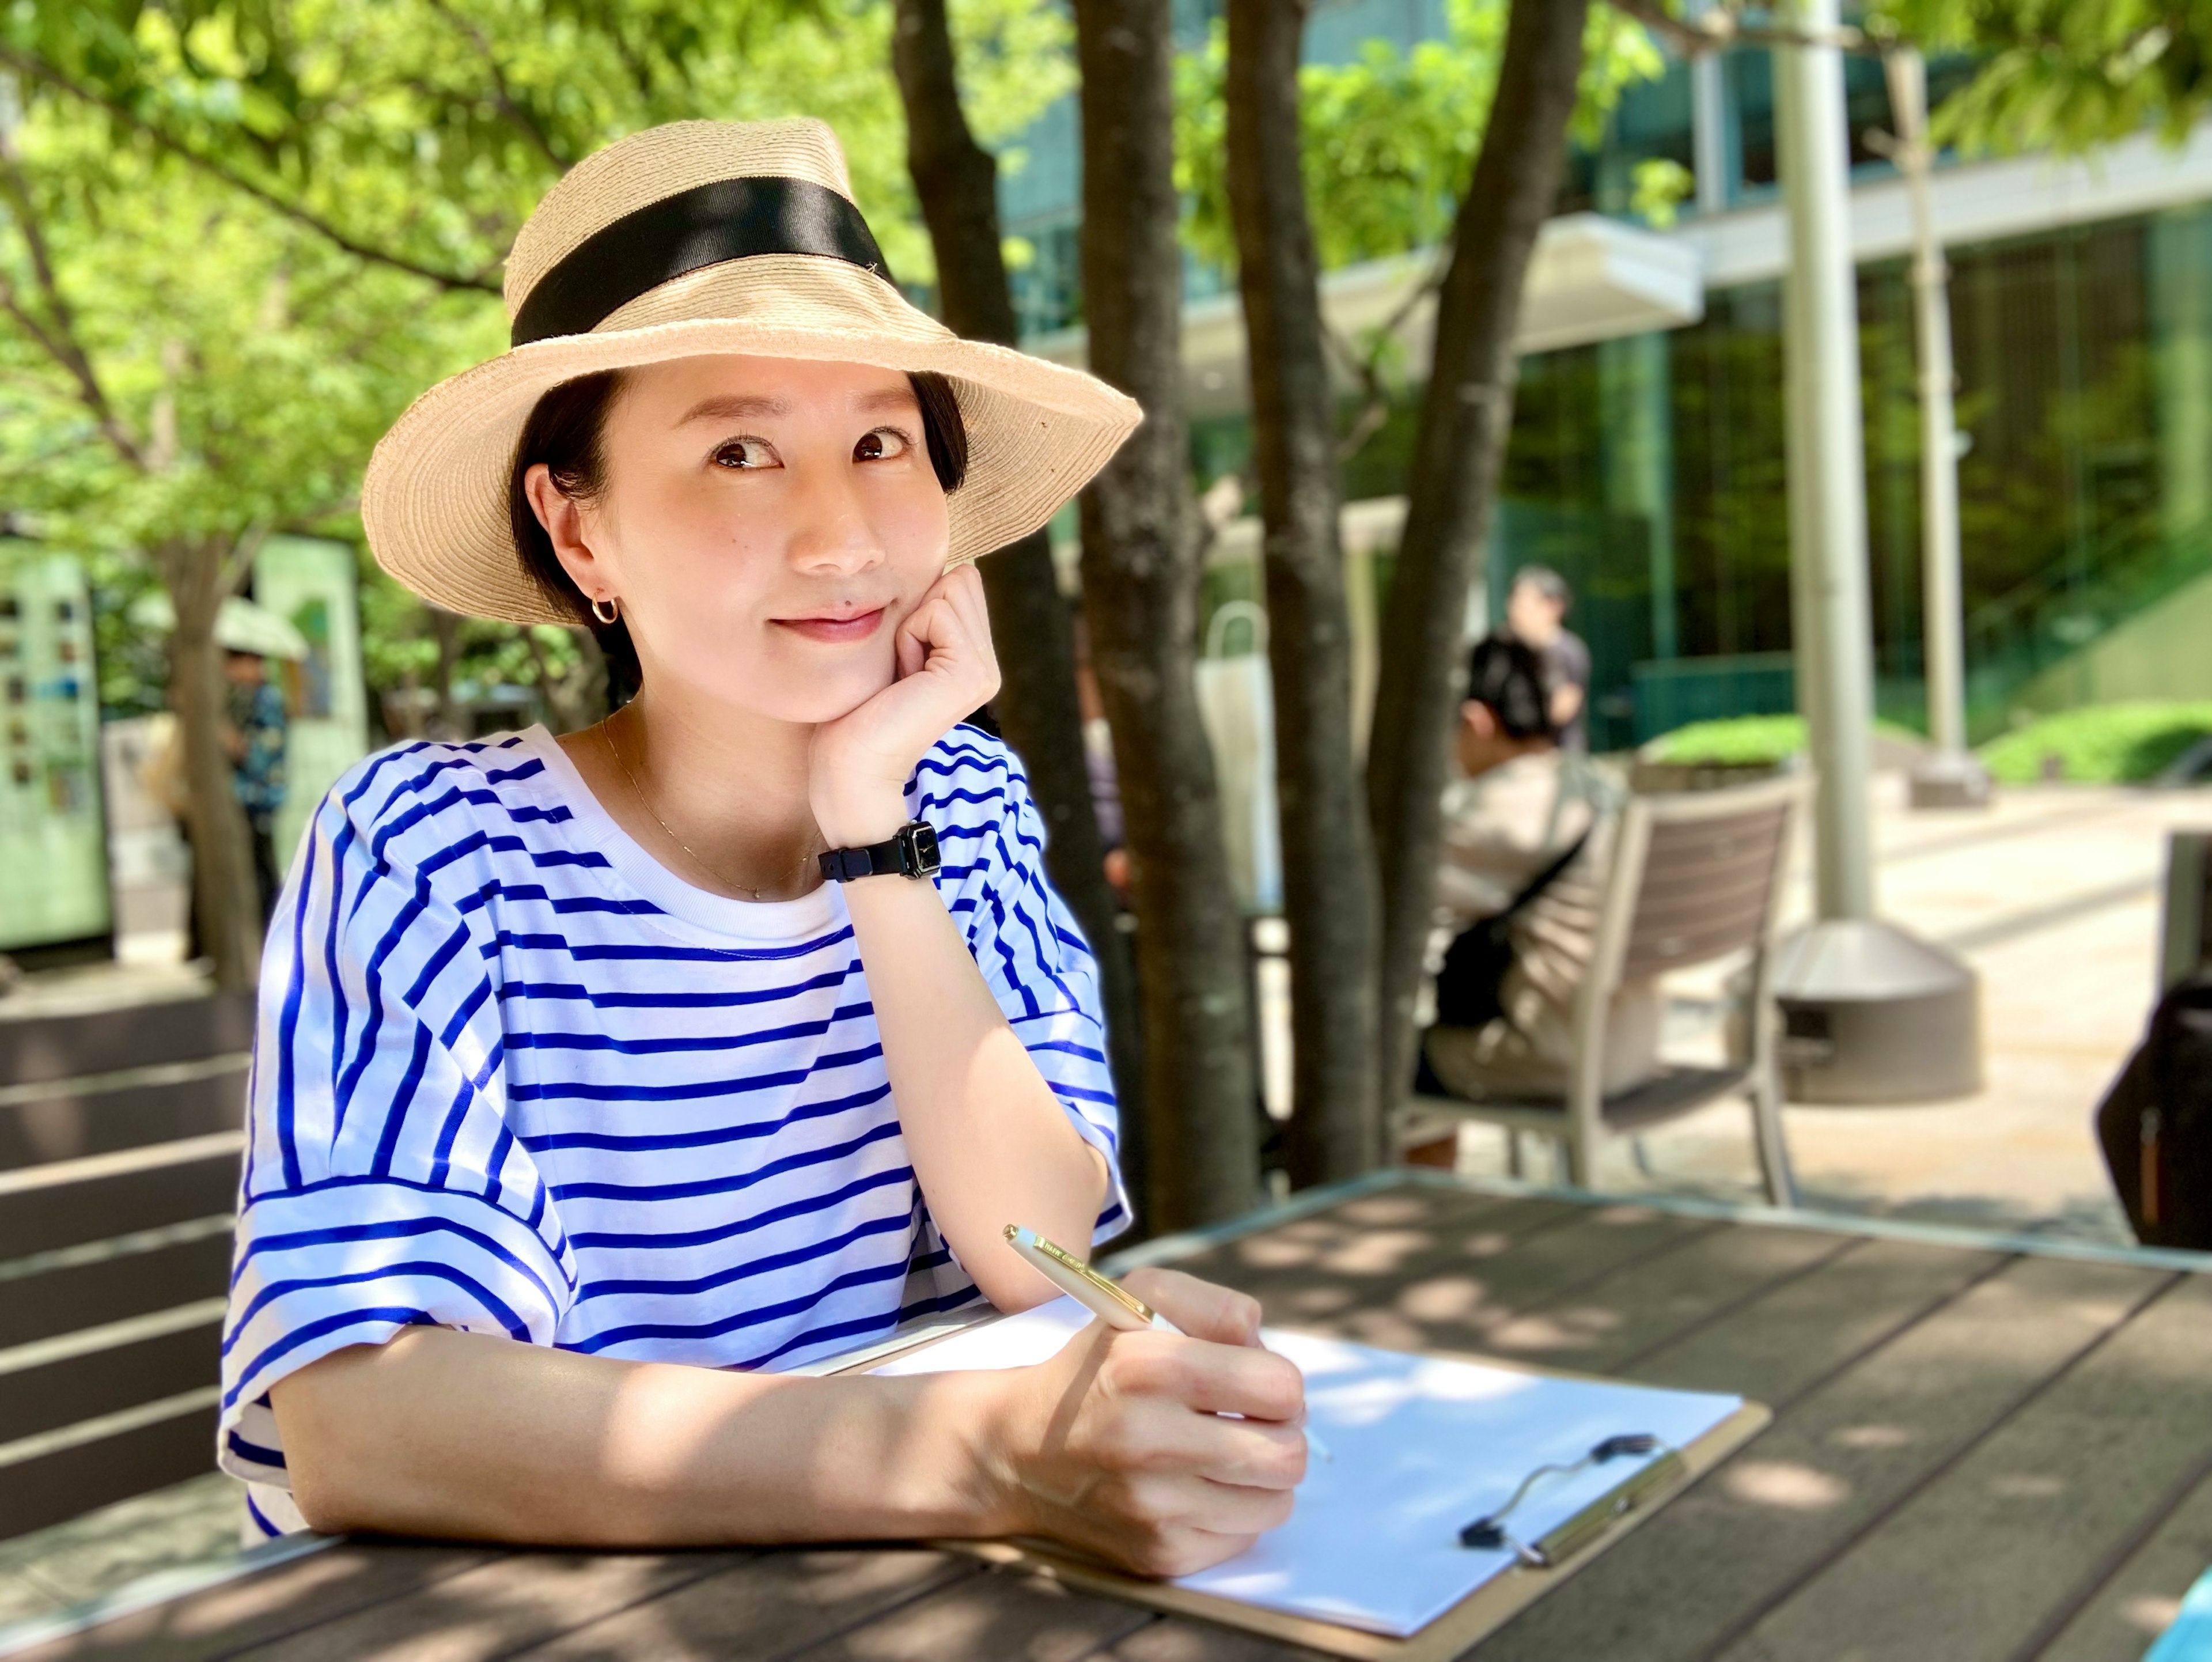
POLYGON ((1632 797, 1599 941, 1608 985, 1763 949, 1790 863, 1796 779, 1632 797))

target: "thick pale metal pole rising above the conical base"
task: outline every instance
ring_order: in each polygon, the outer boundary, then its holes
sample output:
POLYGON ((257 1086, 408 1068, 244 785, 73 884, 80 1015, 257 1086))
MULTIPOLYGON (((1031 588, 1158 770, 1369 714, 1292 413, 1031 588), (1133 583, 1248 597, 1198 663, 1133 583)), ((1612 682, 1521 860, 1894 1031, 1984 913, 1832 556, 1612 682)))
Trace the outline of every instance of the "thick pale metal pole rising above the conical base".
MULTIPOLYGON (((1787 22, 1812 40, 1834 40, 1836 0, 1792 0, 1787 22)), ((1871 918, 1874 640, 1843 55, 1832 44, 1807 44, 1781 46, 1774 60, 1774 131, 1790 210, 1790 564, 1798 704, 1818 777, 1816 890, 1823 918, 1871 918)))

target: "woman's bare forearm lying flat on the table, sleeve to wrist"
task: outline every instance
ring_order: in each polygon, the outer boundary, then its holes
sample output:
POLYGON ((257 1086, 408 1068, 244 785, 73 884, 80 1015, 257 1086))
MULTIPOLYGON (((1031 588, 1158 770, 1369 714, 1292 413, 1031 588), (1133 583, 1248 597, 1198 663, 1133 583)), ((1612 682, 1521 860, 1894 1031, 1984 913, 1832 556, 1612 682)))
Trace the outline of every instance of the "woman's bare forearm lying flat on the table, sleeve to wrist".
POLYGON ((794 1379, 416 1328, 274 1390, 316 1529, 641 1547, 998 1534, 991 1374, 794 1379))

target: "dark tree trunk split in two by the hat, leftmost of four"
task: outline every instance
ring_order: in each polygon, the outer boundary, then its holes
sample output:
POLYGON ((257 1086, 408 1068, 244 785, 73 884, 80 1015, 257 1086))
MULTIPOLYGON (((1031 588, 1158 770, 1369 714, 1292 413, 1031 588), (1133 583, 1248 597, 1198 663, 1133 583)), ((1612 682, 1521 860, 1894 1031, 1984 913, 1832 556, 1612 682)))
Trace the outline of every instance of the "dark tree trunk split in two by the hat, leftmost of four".
MULTIPOLYGON (((898 0, 891 64, 907 106, 907 170, 938 257, 945 323, 971 341, 1020 345, 998 230, 998 159, 975 144, 960 108, 945 0, 898 0)), ((1106 883, 1106 845, 1091 806, 1084 713, 1075 697, 1075 631, 1044 531, 995 551, 978 571, 1004 675, 993 708, 1044 817, 1046 872, 1097 958, 1106 1047, 1121 1104, 1121 1177, 1141 1197, 1148 1140, 1137 974, 1119 929, 1119 905, 1106 883)))

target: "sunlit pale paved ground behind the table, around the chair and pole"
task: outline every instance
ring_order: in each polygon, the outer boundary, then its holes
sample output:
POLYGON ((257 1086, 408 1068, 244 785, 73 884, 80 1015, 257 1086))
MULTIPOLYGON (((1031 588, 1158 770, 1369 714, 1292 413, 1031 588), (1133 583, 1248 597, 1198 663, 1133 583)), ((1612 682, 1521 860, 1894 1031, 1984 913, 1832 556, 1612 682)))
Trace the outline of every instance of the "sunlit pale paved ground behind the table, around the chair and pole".
MULTIPOLYGON (((1880 781, 1880 912, 1982 974, 1986 1089, 1924 1107, 1787 1109, 1805 1204, 2126 1242, 2088 1122, 2150 1014, 2166 834, 2212 828, 2212 790, 2020 788, 1940 814, 1909 812, 1902 794, 1902 779, 1880 781)), ((1805 850, 1792 907, 1812 912, 1805 850)), ((1710 1049, 1717 978, 1672 991, 1670 1042, 1710 1049)), ((1734 1104, 1644 1149, 1650 1173, 1615 1144, 1597 1186, 1756 1197, 1750 1120, 1734 1104)), ((1504 1171, 1504 1138, 1469 1129, 1462 1164, 1504 1171)))

